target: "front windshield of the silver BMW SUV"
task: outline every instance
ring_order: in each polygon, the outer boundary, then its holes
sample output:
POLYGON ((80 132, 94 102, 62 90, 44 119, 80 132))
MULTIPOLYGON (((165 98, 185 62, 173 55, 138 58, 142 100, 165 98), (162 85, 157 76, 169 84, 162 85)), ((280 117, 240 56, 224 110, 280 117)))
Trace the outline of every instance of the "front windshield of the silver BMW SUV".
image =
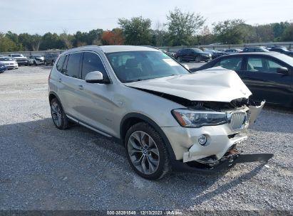
POLYGON ((163 52, 127 51, 106 55, 115 75, 121 82, 135 82, 189 73, 182 65, 163 52))

